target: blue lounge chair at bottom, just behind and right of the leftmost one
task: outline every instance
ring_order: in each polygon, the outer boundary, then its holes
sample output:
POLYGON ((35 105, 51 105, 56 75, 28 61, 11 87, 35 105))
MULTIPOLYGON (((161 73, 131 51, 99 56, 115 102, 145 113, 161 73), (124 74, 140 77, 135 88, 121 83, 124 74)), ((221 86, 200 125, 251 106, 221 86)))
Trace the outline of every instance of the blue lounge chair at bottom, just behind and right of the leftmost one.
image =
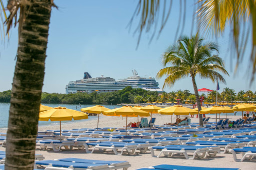
POLYGON ((108 168, 110 168, 111 170, 112 169, 127 170, 127 168, 130 167, 129 162, 127 161, 100 161, 100 160, 86 160, 86 159, 78 159, 78 158, 64 158, 64 159, 58 159, 57 161, 83 163, 83 164, 107 164, 108 168))

